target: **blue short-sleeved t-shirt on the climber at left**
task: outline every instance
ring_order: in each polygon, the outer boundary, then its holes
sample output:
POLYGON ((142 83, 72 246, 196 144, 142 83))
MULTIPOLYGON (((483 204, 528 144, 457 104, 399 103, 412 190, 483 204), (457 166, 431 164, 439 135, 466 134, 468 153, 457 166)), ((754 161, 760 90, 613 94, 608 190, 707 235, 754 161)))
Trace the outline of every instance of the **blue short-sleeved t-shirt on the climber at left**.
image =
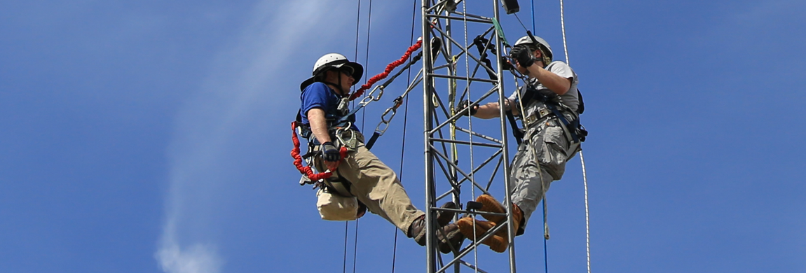
MULTIPOLYGON (((305 90, 302 90, 300 95, 300 101, 302 101, 300 106, 302 123, 310 123, 308 121, 308 111, 314 108, 325 111, 326 118, 341 118, 338 110, 341 97, 322 82, 314 82, 305 87, 305 90)), ((355 126, 355 115, 351 115, 347 120, 353 123, 352 129, 358 130, 358 127, 355 126)))

